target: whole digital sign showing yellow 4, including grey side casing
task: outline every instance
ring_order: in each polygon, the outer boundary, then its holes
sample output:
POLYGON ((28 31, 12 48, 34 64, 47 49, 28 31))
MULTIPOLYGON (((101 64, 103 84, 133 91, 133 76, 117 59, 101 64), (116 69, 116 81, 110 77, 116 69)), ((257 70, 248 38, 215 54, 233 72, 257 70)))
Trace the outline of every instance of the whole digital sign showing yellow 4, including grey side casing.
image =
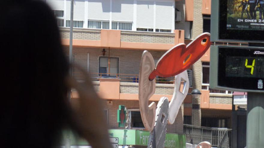
POLYGON ((210 88, 264 92, 264 48, 211 46, 210 88))

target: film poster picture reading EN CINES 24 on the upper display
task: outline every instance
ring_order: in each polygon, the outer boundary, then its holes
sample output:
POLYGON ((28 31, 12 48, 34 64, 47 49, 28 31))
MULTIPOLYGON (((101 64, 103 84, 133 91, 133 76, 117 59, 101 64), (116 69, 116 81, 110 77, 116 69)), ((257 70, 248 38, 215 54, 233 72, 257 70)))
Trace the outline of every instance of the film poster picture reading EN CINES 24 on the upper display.
POLYGON ((264 30, 264 0, 227 0, 226 28, 264 30))

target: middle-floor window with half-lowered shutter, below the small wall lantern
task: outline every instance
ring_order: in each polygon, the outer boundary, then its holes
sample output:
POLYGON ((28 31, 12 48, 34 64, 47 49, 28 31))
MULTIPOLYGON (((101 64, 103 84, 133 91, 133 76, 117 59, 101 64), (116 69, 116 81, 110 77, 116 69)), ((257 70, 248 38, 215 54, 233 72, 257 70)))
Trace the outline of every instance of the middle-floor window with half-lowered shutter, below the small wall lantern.
POLYGON ((100 75, 115 77, 116 74, 118 74, 118 68, 119 68, 119 58, 112 58, 112 57, 110 59, 108 57, 99 58, 100 75), (109 60, 110 60, 110 67, 108 67, 109 60))

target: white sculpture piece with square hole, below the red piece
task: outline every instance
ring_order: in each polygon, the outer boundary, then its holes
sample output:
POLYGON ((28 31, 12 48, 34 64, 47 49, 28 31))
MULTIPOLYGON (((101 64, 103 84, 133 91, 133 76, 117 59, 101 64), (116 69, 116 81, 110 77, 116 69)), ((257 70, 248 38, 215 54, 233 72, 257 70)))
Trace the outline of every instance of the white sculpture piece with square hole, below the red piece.
POLYGON ((185 70, 182 73, 175 76, 173 97, 169 105, 169 120, 168 120, 169 124, 174 123, 176 116, 178 115, 179 109, 182 105, 182 102, 185 99, 186 95, 188 94, 188 90, 189 90, 189 77, 187 70, 185 70), (182 92, 179 90, 181 87, 181 81, 184 81, 182 92))

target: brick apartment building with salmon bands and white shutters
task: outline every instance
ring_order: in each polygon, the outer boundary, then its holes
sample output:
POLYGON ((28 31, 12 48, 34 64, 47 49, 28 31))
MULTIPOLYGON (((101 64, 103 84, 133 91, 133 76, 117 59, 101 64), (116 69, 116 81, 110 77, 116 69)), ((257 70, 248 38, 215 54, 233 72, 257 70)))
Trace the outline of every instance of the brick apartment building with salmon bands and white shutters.
MULTIPOLYGON (((57 17, 65 54, 69 51, 70 0, 46 0, 57 17)), ((73 62, 90 73, 95 90, 104 99, 110 129, 118 129, 117 109, 131 112, 133 129, 143 129, 138 101, 141 55, 150 51, 155 62, 170 48, 210 32, 211 0, 75 0, 73 62)), ((232 92, 209 89, 210 50, 188 69, 190 89, 167 132, 183 133, 183 123, 230 127, 232 92)), ((73 75, 82 80, 77 68, 73 75)), ((149 103, 172 98, 173 79, 157 77, 149 103)), ((72 103, 78 94, 72 91, 72 103)))

